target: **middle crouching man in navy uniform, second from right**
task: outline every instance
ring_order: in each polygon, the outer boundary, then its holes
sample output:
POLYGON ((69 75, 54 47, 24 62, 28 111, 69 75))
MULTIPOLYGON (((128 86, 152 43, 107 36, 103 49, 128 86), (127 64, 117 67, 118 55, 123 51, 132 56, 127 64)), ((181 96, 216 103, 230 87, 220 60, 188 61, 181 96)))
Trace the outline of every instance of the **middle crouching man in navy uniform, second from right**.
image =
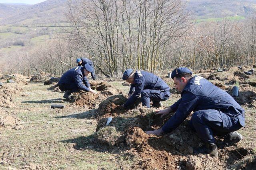
POLYGON ((150 108, 150 100, 152 107, 161 107, 161 101, 165 101, 170 97, 170 88, 155 74, 137 70, 134 72, 128 69, 124 72, 123 80, 131 84, 128 94, 128 100, 123 107, 129 107, 134 104, 139 96, 141 96, 142 106, 150 108))

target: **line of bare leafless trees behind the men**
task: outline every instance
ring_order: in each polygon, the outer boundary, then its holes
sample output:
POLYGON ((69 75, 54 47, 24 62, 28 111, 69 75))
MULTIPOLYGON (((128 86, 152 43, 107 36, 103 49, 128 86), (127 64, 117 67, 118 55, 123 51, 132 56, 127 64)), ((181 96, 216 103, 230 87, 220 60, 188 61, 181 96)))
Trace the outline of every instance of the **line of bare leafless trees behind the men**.
POLYGON ((97 74, 105 76, 126 68, 156 72, 255 64, 255 13, 240 21, 195 23, 185 8, 182 0, 70 2, 66 16, 72 27, 44 47, 21 52, 18 68, 62 74, 79 57, 91 59, 97 74))

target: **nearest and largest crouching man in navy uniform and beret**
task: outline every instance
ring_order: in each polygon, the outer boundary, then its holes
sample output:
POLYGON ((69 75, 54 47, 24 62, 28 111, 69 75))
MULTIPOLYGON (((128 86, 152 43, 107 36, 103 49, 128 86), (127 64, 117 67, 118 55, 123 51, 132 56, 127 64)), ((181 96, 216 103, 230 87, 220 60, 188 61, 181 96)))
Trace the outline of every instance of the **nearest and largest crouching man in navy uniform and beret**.
POLYGON ((156 114, 161 117, 171 112, 175 114, 163 127, 146 131, 147 134, 160 135, 173 131, 194 111, 189 126, 206 144, 198 148, 188 147, 190 153, 209 153, 217 157, 214 135, 224 136, 220 147, 229 147, 242 139, 242 135, 236 131, 245 126, 245 114, 234 98, 205 78, 192 77, 192 72, 186 67, 174 69, 171 77, 176 89, 181 92, 181 99, 156 114))

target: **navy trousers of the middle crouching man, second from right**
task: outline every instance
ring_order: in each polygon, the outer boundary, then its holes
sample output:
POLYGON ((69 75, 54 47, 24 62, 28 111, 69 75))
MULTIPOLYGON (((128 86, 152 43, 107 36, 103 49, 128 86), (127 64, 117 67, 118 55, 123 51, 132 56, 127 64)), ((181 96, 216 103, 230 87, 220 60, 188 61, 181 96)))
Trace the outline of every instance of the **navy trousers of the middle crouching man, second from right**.
POLYGON ((165 101, 170 97, 171 94, 168 91, 162 92, 157 89, 146 89, 142 90, 140 95, 142 106, 150 108, 150 100, 153 102, 165 101))

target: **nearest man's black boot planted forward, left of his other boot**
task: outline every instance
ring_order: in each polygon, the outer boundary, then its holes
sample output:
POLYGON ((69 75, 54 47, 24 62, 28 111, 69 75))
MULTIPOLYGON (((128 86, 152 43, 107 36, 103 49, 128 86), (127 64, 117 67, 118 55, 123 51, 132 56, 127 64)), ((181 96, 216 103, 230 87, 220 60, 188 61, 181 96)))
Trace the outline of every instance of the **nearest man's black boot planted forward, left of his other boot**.
POLYGON ((188 152, 190 152, 190 154, 210 154, 213 158, 218 157, 218 150, 215 143, 206 144, 198 148, 188 146, 188 152))

